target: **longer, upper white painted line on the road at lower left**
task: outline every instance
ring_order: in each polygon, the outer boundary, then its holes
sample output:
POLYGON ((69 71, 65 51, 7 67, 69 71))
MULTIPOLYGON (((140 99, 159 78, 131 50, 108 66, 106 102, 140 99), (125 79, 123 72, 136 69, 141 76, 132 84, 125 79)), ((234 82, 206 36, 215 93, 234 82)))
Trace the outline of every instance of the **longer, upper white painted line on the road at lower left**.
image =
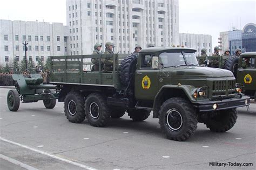
POLYGON ((14 144, 14 145, 16 145, 16 146, 20 146, 20 147, 26 148, 26 149, 28 149, 28 150, 30 150, 30 151, 34 151, 34 152, 37 152, 37 153, 46 155, 46 156, 51 157, 51 158, 54 158, 54 159, 58 159, 58 160, 63 161, 63 162, 67 162, 67 163, 69 163, 69 164, 72 164, 72 165, 75 165, 75 166, 78 166, 78 167, 81 167, 81 168, 84 168, 84 169, 90 169, 90 170, 95 170, 95 169, 96 169, 96 168, 89 167, 89 166, 87 166, 87 165, 79 164, 78 162, 75 162, 75 161, 71 161, 71 160, 68 160, 68 159, 64 159, 64 158, 58 157, 58 156, 53 155, 53 154, 51 154, 51 153, 47 153, 47 152, 40 151, 40 150, 37 150, 37 149, 35 149, 35 148, 26 146, 26 145, 22 145, 22 144, 16 143, 15 141, 11 141, 11 140, 8 140, 8 139, 4 139, 4 138, 2 138, 2 137, 0 137, 0 140, 5 141, 5 142, 8 142, 8 143, 10 143, 10 144, 14 144))

